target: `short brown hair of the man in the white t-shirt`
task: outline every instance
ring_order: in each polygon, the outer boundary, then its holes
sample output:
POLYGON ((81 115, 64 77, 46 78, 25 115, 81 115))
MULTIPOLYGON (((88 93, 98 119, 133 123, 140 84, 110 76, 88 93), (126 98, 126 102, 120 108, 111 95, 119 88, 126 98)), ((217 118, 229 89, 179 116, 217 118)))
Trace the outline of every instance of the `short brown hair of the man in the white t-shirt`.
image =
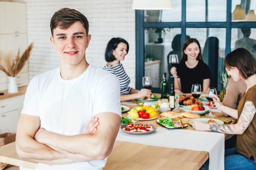
POLYGON ((89 32, 89 22, 85 15, 75 9, 62 8, 52 15, 50 28, 53 35, 53 30, 59 27, 60 29, 67 29, 74 22, 81 22, 86 30, 86 35, 89 32))

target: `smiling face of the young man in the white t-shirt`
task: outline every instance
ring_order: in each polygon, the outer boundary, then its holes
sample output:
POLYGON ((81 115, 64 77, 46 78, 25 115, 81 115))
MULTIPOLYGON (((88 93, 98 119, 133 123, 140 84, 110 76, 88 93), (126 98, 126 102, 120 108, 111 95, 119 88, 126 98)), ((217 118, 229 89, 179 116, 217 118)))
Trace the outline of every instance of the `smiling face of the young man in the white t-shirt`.
POLYGON ((88 48, 91 35, 86 36, 86 30, 81 22, 74 22, 67 29, 54 29, 50 40, 57 50, 61 65, 78 65, 85 62, 85 50, 88 48))

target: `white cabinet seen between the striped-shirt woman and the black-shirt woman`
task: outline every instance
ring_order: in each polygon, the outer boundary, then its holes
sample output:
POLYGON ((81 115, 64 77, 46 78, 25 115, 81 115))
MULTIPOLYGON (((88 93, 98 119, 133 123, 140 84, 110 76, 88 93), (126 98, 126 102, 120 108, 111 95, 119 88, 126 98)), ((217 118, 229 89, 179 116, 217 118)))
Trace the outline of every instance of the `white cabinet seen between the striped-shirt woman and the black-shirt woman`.
POLYGON ((159 69, 161 60, 145 62, 145 76, 152 79, 152 87, 160 87, 159 69))

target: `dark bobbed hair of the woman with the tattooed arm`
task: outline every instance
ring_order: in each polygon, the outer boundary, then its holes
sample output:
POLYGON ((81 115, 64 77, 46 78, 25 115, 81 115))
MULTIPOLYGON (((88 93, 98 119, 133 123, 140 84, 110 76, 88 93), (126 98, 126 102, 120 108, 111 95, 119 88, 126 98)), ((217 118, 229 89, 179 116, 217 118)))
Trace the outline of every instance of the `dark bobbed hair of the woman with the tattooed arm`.
POLYGON ((238 48, 228 53, 224 59, 224 64, 227 68, 238 68, 238 71, 245 79, 256 73, 255 58, 244 48, 238 48))

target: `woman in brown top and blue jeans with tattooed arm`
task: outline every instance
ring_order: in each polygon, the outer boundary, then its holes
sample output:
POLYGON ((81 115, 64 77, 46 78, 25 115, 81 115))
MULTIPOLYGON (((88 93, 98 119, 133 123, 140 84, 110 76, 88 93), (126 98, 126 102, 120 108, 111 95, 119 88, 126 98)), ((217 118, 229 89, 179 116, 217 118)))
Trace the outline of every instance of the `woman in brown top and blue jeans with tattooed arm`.
MULTIPOLYGON (((242 79, 247 88, 238 110, 222 105, 215 95, 216 107, 231 117, 238 119, 236 124, 211 125, 200 121, 193 122, 193 128, 201 131, 213 131, 236 134, 236 148, 225 150, 225 170, 256 170, 256 62, 254 56, 244 48, 229 53, 224 60, 227 74, 234 81, 242 79)), ((205 166, 207 169, 208 166, 205 166)))

